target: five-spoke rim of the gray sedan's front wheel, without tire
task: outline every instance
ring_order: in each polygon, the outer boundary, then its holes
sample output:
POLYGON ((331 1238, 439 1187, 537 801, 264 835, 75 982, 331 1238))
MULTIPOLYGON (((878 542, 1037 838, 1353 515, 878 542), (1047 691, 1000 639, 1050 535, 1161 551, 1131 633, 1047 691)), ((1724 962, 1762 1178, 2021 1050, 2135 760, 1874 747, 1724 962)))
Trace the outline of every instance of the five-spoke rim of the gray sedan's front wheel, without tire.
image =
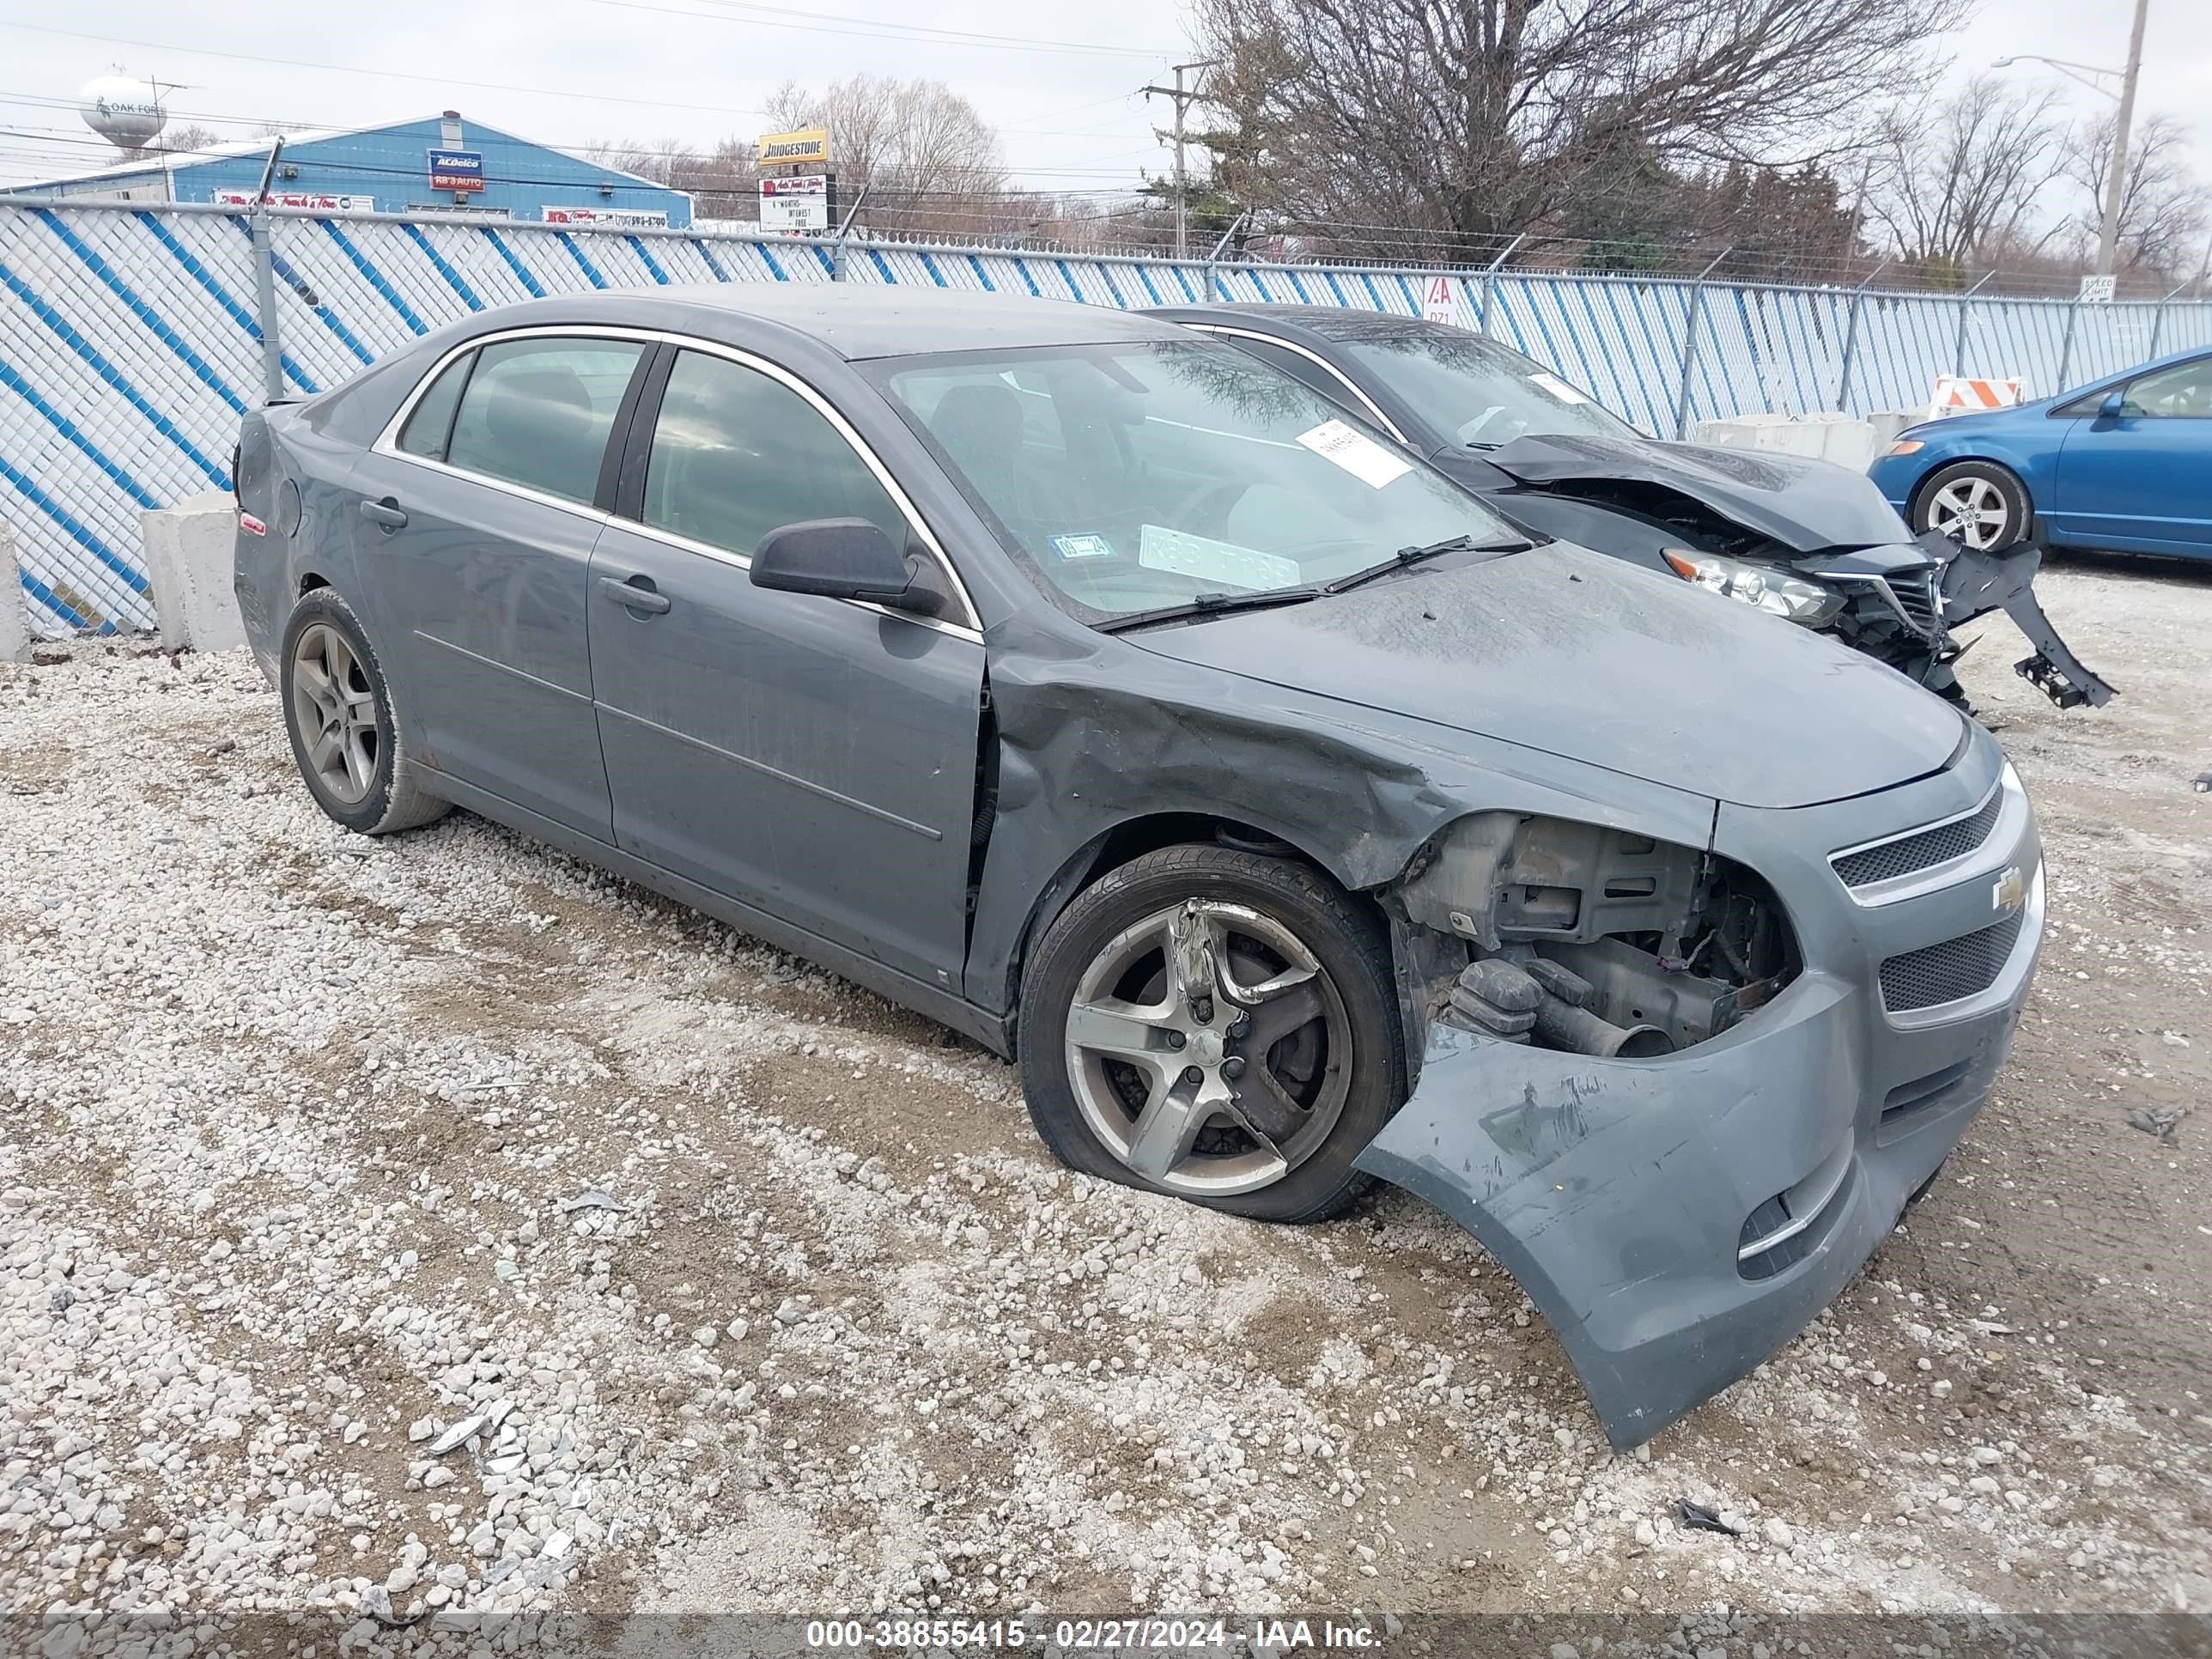
POLYGON ((1245 905, 1186 900, 1108 940, 1075 987, 1066 1064, 1113 1157, 1223 1197, 1283 1179, 1352 1091, 1352 1020, 1318 958, 1245 905))

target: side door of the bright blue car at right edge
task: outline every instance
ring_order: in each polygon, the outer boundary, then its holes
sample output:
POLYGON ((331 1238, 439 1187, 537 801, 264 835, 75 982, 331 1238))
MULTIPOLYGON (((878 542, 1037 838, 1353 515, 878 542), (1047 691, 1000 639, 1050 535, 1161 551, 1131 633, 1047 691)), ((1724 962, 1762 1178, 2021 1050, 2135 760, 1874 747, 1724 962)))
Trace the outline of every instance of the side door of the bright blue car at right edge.
POLYGON ((2068 422, 2051 526, 2081 546, 2212 557, 2208 480, 2212 356, 2137 376, 2117 416, 2068 422))

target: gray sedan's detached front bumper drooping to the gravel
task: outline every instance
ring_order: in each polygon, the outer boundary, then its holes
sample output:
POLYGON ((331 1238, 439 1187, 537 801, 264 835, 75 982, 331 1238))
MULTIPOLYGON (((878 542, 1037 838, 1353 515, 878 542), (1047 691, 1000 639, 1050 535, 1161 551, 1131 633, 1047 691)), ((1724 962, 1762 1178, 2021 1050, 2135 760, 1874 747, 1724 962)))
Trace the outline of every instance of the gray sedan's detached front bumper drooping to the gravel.
POLYGON ((1938 883, 1878 905, 1849 896, 1829 854, 1971 810, 2000 763, 1982 739, 1880 796, 1723 807, 1719 849, 1776 885, 1807 971, 1710 1042, 1593 1060, 1431 1026, 1418 1088, 1358 1166, 1500 1259, 1613 1444, 1648 1440, 1796 1336, 1989 1097, 2042 942, 2024 796, 1938 883), (1997 887, 2017 887, 2020 931, 1995 978, 1949 1006, 1885 1011, 1882 960, 1986 927, 1997 887))

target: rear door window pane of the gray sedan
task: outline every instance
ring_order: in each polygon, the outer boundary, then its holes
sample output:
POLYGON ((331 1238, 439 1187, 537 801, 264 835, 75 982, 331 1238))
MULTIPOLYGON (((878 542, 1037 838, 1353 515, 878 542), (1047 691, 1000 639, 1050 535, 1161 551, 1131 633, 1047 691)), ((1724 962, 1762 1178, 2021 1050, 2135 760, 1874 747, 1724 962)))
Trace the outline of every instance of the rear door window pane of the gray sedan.
POLYGON ((644 349, 637 341, 560 336, 487 345, 460 392, 447 465, 588 502, 644 349))

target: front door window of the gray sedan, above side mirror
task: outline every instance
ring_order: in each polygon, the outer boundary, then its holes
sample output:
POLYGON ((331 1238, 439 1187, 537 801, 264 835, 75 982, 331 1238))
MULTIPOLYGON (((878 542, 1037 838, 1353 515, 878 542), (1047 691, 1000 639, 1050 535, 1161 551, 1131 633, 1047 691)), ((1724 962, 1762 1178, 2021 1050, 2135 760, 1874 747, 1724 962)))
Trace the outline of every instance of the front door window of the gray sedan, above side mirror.
POLYGON ((907 518, 821 411, 730 358, 681 352, 646 458, 646 524, 752 557, 810 518, 865 518, 894 546, 907 518))

